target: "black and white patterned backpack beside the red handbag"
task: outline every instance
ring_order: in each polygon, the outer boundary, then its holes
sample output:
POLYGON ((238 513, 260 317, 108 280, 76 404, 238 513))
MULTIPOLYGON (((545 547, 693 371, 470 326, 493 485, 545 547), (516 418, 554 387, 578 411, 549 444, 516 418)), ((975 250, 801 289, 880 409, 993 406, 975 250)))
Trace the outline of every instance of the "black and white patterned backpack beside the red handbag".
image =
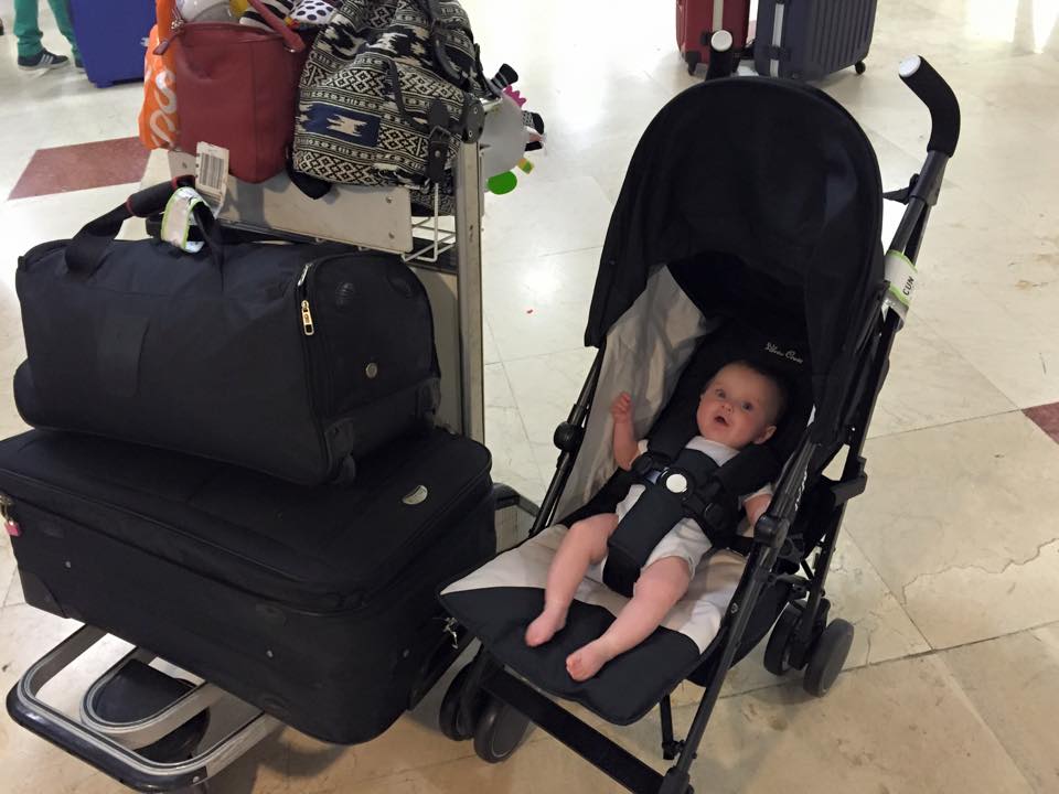
MULTIPOLYGON (((451 165, 481 135, 485 81, 456 0, 344 0, 301 78, 295 171, 325 182, 406 185, 451 212, 451 165)), ((513 82, 513 81, 512 81, 513 82)))

